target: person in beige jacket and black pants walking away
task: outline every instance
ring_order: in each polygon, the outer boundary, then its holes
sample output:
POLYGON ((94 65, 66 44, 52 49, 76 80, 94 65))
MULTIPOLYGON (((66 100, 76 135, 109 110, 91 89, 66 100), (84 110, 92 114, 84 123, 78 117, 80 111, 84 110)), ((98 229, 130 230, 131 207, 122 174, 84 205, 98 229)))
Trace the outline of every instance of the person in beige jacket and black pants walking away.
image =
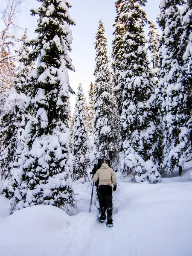
POLYGON ((105 222, 106 220, 106 210, 107 210, 107 224, 108 226, 113 226, 112 214, 113 214, 113 202, 112 202, 112 189, 116 191, 116 175, 111 167, 108 166, 108 160, 102 159, 101 168, 98 169, 93 176, 92 180, 96 182, 99 180, 99 204, 101 209, 101 216, 99 218, 100 222, 105 222), (113 183, 113 186, 112 186, 113 183))

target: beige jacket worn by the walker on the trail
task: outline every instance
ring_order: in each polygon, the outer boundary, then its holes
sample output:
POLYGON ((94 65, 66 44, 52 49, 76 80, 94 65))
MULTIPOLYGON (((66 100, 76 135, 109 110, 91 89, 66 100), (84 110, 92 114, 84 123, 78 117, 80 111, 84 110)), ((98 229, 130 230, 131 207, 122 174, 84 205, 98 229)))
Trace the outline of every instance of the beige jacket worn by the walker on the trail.
POLYGON ((99 179, 100 185, 110 185, 111 182, 116 186, 116 175, 112 168, 110 168, 106 163, 102 163, 100 169, 96 171, 96 174, 93 176, 92 180, 95 182, 99 179))

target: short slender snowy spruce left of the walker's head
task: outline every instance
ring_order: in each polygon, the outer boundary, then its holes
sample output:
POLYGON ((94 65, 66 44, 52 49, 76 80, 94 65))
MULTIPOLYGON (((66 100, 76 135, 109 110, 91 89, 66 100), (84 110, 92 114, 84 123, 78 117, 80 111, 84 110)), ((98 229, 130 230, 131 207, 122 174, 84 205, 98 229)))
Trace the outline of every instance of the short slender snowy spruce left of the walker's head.
POLYGON ((88 180, 87 169, 90 164, 90 147, 88 143, 88 131, 85 123, 87 116, 86 103, 83 97, 81 83, 77 89, 76 106, 74 111, 74 125, 72 137, 73 154, 73 180, 84 178, 88 180))

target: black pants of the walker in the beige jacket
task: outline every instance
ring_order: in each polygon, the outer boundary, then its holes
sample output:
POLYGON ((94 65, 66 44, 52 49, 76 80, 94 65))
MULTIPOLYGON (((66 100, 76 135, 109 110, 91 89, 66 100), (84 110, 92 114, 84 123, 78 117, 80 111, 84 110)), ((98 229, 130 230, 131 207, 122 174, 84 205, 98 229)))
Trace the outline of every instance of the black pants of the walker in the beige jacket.
POLYGON ((107 209, 108 207, 113 208, 113 202, 112 202, 112 186, 110 185, 101 185, 98 189, 99 192, 99 204, 100 207, 105 207, 107 209))

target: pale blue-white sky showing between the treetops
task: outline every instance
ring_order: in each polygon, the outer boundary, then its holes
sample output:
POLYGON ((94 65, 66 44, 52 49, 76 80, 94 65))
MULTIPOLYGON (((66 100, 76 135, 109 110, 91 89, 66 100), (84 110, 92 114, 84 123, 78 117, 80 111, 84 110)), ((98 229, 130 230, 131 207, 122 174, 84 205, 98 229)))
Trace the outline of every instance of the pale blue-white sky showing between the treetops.
MULTIPOLYGON (((0 0, 1 2, 2 0, 0 0)), ((112 26, 116 17, 116 0, 70 0, 72 7, 70 15, 75 20, 76 26, 72 26, 73 43, 70 57, 76 72, 69 72, 70 85, 77 91, 79 82, 81 82, 84 94, 87 96, 90 82, 94 83, 95 66, 95 35, 98 29, 99 20, 102 20, 105 26, 105 36, 108 39, 108 55, 111 54, 111 43, 113 40, 114 27, 112 26)), ((35 38, 34 33, 37 27, 37 15, 30 15, 31 8, 38 8, 41 3, 36 0, 26 0, 23 12, 20 13, 18 23, 23 28, 28 28, 28 37, 35 38)), ((145 11, 149 20, 156 20, 159 13, 160 0, 148 0, 145 11)), ((146 28, 146 34, 148 33, 146 28)), ((71 108, 73 111, 75 105, 75 96, 71 96, 71 108)))

